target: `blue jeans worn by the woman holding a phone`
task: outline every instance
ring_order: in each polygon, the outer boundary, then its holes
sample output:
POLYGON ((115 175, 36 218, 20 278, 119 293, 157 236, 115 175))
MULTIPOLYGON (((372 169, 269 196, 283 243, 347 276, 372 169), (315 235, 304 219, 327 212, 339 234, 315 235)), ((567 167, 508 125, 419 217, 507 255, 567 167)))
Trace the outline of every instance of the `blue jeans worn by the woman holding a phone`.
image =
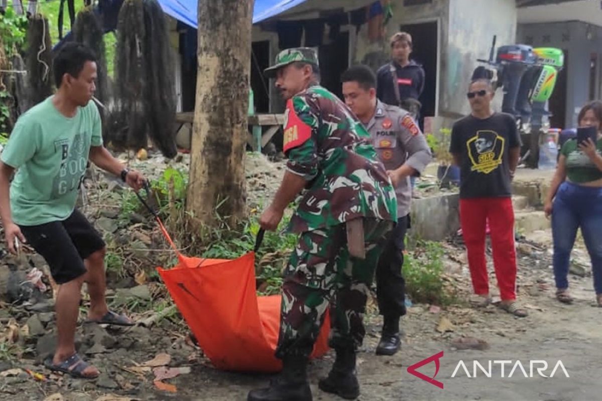
POLYGON ((564 182, 556 193, 552 211, 554 279, 558 289, 568 288, 571 250, 579 227, 592 261, 594 289, 596 294, 602 294, 602 188, 564 182))

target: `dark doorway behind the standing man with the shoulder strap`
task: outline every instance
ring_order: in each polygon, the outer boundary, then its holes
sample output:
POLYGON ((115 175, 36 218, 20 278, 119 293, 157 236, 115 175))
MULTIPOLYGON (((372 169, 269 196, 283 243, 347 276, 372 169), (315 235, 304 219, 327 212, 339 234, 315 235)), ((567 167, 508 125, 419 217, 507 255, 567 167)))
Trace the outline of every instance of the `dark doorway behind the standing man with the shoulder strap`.
POLYGON ((411 59, 421 64, 424 69, 424 90, 418 100, 422 103, 420 110, 420 126, 424 117, 433 117, 437 102, 437 58, 438 22, 411 23, 400 26, 403 32, 412 35, 411 59))

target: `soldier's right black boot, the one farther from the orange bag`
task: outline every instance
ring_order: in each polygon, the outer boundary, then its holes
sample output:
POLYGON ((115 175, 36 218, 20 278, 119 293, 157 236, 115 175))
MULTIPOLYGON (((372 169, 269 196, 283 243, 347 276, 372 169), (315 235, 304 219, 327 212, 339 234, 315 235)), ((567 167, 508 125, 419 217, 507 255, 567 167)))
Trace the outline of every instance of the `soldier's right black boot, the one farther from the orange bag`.
POLYGON ((346 400, 359 397, 359 383, 355 376, 355 350, 337 349, 337 359, 328 377, 320 379, 318 387, 326 393, 337 394, 346 400))

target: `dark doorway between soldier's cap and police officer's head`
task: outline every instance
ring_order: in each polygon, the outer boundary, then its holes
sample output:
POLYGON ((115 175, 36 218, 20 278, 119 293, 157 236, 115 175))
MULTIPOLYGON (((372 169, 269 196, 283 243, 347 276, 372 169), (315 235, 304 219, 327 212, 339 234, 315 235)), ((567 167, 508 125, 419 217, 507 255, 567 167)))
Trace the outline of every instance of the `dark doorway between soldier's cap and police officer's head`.
POLYGON ((340 32, 335 40, 318 47, 320 85, 343 99, 341 75, 349 68, 349 32, 340 32))

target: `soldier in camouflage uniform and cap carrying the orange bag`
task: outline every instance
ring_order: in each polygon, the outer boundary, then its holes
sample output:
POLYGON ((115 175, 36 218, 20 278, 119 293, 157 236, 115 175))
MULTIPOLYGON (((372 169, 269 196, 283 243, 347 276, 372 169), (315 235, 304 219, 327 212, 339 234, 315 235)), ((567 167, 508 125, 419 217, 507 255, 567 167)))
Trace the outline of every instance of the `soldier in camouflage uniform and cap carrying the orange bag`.
POLYGON ((287 172, 260 225, 275 230, 287 205, 305 194, 289 229, 299 233, 282 286, 276 357, 283 370, 249 400, 311 400, 308 357, 330 307, 330 346, 337 360, 320 388, 359 396, 355 352, 377 260, 396 220, 396 196, 370 135, 334 94, 320 87, 312 49, 282 51, 267 74, 287 99, 287 172), (359 225, 358 225, 359 223, 359 225), (359 240, 358 240, 359 238, 359 240))

